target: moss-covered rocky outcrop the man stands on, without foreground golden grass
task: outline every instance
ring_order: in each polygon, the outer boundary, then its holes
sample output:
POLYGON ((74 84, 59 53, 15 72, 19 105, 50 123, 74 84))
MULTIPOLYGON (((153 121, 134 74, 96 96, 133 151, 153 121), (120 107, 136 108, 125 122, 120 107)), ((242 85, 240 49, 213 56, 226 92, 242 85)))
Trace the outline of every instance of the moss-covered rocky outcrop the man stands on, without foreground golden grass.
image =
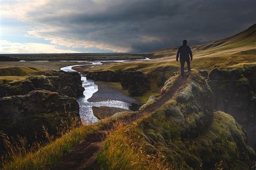
MULTIPOLYGON (((160 152, 172 169, 250 169, 255 153, 247 134, 231 115, 214 112, 206 80, 192 70, 186 84, 180 82, 179 75, 167 80, 161 96, 180 86, 174 97, 138 122, 134 132, 143 137, 147 154, 160 152)), ((151 97, 141 110, 161 96, 151 97)))

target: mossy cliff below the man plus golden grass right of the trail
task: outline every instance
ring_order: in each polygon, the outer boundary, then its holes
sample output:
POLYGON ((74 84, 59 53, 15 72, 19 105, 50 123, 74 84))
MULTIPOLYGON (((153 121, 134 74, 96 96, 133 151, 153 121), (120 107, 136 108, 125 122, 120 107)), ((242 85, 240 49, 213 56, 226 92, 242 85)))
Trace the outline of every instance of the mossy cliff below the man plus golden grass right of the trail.
MULTIPOLYGON (((179 79, 177 75, 167 80, 161 96, 151 97, 140 111, 133 113, 147 112, 144 117, 106 139, 98 157, 102 167, 149 168, 156 159, 147 164, 144 157, 138 157, 145 152, 161 157, 161 165, 174 169, 250 169, 255 153, 247 145, 245 131, 231 115, 213 111, 212 92, 204 78, 193 70, 184 84, 179 84, 179 79), (166 97, 165 93, 177 88, 169 101, 156 107, 166 97), (118 164, 113 165, 117 158, 118 164), (135 163, 129 165, 129 161, 135 163)), ((114 116, 122 117, 122 113, 114 116)), ((131 113, 128 117, 132 118, 131 113)))

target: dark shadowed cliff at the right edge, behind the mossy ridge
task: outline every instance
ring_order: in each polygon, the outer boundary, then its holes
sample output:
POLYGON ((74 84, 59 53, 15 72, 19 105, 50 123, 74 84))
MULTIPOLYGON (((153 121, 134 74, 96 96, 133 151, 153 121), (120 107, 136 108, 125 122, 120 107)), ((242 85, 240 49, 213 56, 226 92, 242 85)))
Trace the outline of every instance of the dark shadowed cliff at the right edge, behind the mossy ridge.
POLYGON ((248 133, 248 143, 256 150, 256 65, 213 69, 208 84, 213 92, 213 108, 232 115, 248 133))

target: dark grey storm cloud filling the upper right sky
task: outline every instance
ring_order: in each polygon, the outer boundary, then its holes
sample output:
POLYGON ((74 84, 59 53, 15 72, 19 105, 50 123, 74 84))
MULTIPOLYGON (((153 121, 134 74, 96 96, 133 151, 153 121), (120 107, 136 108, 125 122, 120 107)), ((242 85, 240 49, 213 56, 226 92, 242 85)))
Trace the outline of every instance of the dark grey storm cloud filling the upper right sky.
MULTIPOLYGON (((63 28, 56 32, 62 37, 71 35, 131 52, 177 46, 183 39, 200 44, 225 38, 254 24, 256 16, 255 0, 78 1, 49 5, 33 13, 32 21, 63 28), (57 12, 65 9, 71 12, 57 12)), ((42 37, 47 33, 55 32, 49 30, 42 37)), ((113 47, 112 51, 118 51, 113 47)))

